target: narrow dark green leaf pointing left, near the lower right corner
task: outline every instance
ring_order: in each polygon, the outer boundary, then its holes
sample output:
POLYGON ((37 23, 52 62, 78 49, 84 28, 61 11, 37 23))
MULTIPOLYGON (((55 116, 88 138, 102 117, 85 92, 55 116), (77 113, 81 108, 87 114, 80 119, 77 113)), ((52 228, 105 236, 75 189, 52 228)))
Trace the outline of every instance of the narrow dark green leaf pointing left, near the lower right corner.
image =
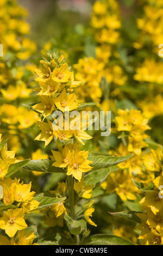
MULTIPOLYGON (((108 211, 109 212, 109 211, 108 211)), ((136 223, 141 223, 139 217, 136 214, 142 214, 141 211, 120 211, 120 212, 109 212, 111 216, 121 217, 128 221, 133 221, 136 223)))

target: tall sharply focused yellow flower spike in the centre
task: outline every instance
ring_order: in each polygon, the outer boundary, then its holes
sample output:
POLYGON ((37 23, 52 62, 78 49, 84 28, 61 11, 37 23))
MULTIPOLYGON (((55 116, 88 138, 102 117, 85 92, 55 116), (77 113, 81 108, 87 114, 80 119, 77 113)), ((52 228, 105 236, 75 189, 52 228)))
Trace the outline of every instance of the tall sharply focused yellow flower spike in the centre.
MULTIPOLYGON (((70 182, 70 180, 72 181, 72 184, 69 184, 69 190, 70 187, 72 190, 74 177, 78 180, 78 182, 74 181, 74 191, 79 194, 79 197, 91 198, 90 192, 94 185, 85 186, 84 177, 82 178, 83 173, 89 172, 92 169, 90 166, 92 161, 87 159, 89 151, 82 150, 81 147, 81 144, 85 144, 85 140, 92 138, 85 132, 88 122, 85 122, 84 130, 78 129, 79 127, 75 125, 72 129, 71 123, 74 124, 77 120, 79 120, 79 126, 83 129, 83 124, 80 123, 80 114, 82 112, 80 112, 78 119, 70 118, 70 122, 66 119, 66 113, 69 115, 73 109, 78 109, 80 106, 77 96, 73 92, 74 88, 80 86, 80 82, 74 81, 74 73, 70 71, 64 56, 61 55, 58 57, 57 54, 48 52, 46 58, 44 57, 44 59, 40 61, 42 67, 35 70, 38 76, 36 81, 40 86, 36 90, 41 102, 32 106, 32 108, 42 115, 42 121, 37 122, 41 133, 35 140, 45 142, 45 147, 51 143, 53 139, 55 140, 58 151, 52 150, 52 166, 65 170, 69 177, 68 182, 70 182), (60 127, 57 118, 53 117, 54 111, 60 111, 62 113, 64 127, 60 127)), ((59 182, 57 191, 50 192, 55 194, 58 198, 65 196, 67 183, 59 182)), ((55 227, 55 225, 62 227, 63 218, 65 214, 67 215, 66 203, 64 203, 65 202, 59 202, 45 209, 45 224, 48 225, 48 227, 55 227)), ((93 208, 87 207, 85 209, 90 210, 93 208)), ((90 219, 93 211, 86 212, 85 218, 90 224, 93 223, 90 219)), ((93 225, 96 224, 93 223, 93 225)))

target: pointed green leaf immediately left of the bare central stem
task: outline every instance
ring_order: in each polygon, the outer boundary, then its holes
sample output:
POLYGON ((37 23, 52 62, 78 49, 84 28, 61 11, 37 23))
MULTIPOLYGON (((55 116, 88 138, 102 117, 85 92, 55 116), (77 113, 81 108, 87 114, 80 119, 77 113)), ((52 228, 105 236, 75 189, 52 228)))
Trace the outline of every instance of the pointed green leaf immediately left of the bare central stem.
POLYGON ((37 202, 40 203, 37 210, 45 209, 49 206, 52 206, 53 204, 62 202, 65 199, 66 199, 66 197, 56 198, 56 197, 54 197, 54 194, 50 194, 50 193, 41 193, 41 194, 37 194, 34 197, 34 200, 36 200, 37 202))

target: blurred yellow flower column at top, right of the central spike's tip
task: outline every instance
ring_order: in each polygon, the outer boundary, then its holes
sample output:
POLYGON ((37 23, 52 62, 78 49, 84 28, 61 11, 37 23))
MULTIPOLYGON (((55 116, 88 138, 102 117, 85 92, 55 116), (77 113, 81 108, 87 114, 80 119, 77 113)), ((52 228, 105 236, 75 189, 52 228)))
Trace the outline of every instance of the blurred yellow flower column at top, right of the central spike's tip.
MULTIPOLYGON (((103 88, 102 77, 110 84, 110 93, 116 96, 120 93, 117 86, 123 86, 127 81, 124 75, 120 54, 116 46, 120 40, 121 17, 120 8, 115 0, 96 1, 91 17, 92 32, 95 31, 95 57, 79 59, 73 67, 77 70, 76 78, 84 81, 77 89, 79 100, 87 100, 88 95, 96 102, 101 102, 103 88)), ((108 95, 106 94, 106 97, 108 95)))

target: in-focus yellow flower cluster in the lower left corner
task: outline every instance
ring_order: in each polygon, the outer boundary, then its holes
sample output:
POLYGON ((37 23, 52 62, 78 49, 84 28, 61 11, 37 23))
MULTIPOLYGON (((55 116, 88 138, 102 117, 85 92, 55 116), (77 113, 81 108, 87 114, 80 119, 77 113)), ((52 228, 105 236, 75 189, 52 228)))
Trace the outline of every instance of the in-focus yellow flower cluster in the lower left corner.
POLYGON ((11 237, 11 241, 1 235, 0 244, 6 245, 32 245, 35 235, 33 231, 26 234, 26 224, 24 218, 26 214, 35 210, 39 206, 39 202, 34 200, 35 192, 31 190, 31 182, 23 184, 20 179, 12 180, 9 176, 14 164, 21 163, 15 158, 14 151, 7 150, 5 141, 1 141, 1 158, 0 158, 0 186, 1 190, 1 212, 0 212, 0 229, 5 230, 5 233, 11 237), (14 240, 14 236, 18 233, 18 240, 14 240), (26 240, 27 238, 27 240, 26 240))

